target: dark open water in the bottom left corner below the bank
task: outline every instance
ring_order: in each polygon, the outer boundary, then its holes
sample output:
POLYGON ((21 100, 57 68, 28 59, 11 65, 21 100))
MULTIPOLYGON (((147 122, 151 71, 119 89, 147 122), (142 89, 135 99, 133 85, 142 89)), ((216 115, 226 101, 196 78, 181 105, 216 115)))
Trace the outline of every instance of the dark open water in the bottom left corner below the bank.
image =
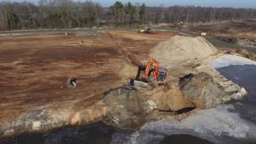
POLYGON ((88 126, 69 126, 45 134, 20 134, 0 140, 4 144, 109 144, 114 127, 97 122, 88 126))

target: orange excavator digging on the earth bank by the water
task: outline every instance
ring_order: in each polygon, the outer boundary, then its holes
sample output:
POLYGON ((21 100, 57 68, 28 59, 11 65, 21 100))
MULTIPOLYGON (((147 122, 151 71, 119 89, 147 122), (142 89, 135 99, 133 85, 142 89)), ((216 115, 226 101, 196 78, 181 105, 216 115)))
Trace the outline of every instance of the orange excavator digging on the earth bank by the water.
POLYGON ((149 86, 150 89, 166 84, 167 69, 160 67, 154 58, 147 58, 146 66, 138 66, 135 79, 131 79, 130 86, 149 86))

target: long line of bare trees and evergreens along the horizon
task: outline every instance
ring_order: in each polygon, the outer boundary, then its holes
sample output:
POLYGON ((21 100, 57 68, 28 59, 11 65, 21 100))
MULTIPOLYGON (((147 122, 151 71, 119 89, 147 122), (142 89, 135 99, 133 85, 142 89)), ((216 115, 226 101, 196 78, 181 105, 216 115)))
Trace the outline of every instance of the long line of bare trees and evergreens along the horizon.
POLYGON ((142 26, 159 22, 175 24, 247 18, 256 18, 256 10, 200 6, 149 7, 118 1, 107 8, 97 2, 73 0, 39 0, 38 5, 31 2, 0 2, 0 30, 142 26))

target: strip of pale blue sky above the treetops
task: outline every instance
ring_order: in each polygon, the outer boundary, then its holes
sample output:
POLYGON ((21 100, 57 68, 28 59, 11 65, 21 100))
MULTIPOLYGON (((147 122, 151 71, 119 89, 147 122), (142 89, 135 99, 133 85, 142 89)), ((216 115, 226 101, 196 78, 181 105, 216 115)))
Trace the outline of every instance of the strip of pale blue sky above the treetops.
MULTIPOLYGON (((12 1, 12 2, 24 2, 25 0, 0 0, 12 1)), ((75 1, 86 1, 86 0, 75 0, 75 1)), ((111 6, 115 0, 91 0, 99 2, 102 6, 111 6)), ((214 7, 246 7, 256 8, 256 0, 120 0, 122 2, 140 2, 145 3, 146 6, 174 6, 174 5, 193 5, 193 6, 214 6, 214 7)), ((38 3, 38 0, 26 0, 26 2, 38 3)))

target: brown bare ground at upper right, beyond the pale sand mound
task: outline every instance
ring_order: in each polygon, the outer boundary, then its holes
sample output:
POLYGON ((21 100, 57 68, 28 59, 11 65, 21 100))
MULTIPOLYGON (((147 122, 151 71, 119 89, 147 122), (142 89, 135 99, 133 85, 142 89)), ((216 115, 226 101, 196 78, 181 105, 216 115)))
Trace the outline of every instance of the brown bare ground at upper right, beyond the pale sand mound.
MULTIPOLYGON (((208 25, 187 26, 185 30, 195 34, 206 33, 208 38, 216 38, 223 42, 239 46, 256 47, 256 20, 227 21, 208 25)), ((254 51, 254 49, 249 49, 254 51)))

